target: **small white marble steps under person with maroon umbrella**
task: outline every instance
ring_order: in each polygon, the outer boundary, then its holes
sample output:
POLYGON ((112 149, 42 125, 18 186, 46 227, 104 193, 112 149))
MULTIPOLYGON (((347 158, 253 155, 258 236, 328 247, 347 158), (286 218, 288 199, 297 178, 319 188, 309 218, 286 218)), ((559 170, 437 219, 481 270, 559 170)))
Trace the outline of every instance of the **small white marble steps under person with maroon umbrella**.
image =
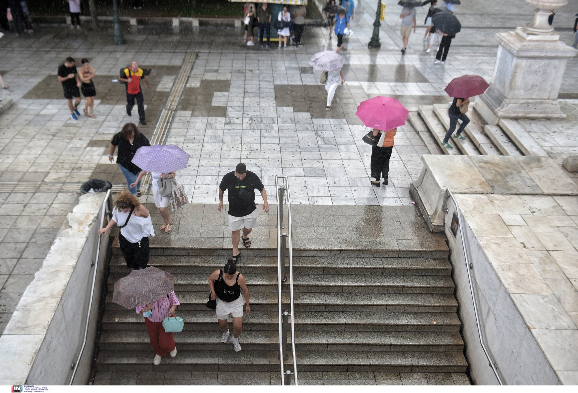
POLYGON ((408 117, 431 154, 548 155, 516 120, 501 119, 499 125, 486 125, 477 116, 473 104, 468 112, 470 123, 462 134, 466 139, 451 138, 454 149, 446 149, 441 144, 450 125, 449 104, 421 105, 418 112, 412 112, 408 117))

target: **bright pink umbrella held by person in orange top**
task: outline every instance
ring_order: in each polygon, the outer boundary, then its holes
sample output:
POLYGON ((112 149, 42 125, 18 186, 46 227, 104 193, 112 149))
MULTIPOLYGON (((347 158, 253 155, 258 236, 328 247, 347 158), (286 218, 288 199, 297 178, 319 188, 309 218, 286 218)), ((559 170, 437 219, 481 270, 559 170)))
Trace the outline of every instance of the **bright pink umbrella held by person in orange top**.
POLYGON ((361 102, 355 114, 366 127, 389 131, 405 124, 409 110, 395 98, 378 95, 361 102))

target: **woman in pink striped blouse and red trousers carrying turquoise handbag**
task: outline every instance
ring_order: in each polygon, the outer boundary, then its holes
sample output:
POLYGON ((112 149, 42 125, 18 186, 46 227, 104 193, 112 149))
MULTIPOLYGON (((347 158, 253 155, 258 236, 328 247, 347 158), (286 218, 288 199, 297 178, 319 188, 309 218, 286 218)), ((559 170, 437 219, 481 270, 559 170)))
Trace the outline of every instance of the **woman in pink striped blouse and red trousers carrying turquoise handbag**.
POLYGON ((150 344, 156 353, 153 360, 155 366, 161 364, 163 356, 171 354, 171 357, 174 358, 177 355, 173 333, 165 332, 162 327, 162 320, 168 316, 176 316, 177 305, 180 305, 179 299, 177 299, 175 292, 171 292, 154 303, 136 307, 136 313, 144 316, 144 324, 149 331, 150 344))

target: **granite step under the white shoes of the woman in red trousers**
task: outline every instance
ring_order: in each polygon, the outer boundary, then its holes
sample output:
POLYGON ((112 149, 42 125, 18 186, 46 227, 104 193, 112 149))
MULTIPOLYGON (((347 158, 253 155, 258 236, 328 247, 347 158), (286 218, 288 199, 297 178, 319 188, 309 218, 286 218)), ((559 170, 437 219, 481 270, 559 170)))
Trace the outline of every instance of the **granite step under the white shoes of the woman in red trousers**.
MULTIPOLYGON (((241 342, 243 346, 243 342, 241 342)), ((278 351, 186 351, 175 358, 164 357, 153 366, 151 349, 140 351, 100 351, 99 371, 122 370, 228 370, 276 371, 279 369, 278 351)), ((286 363, 291 364, 291 351, 286 363)), ((465 372, 468 364, 460 352, 419 351, 297 351, 301 370, 307 371, 373 371, 373 372, 465 372)))

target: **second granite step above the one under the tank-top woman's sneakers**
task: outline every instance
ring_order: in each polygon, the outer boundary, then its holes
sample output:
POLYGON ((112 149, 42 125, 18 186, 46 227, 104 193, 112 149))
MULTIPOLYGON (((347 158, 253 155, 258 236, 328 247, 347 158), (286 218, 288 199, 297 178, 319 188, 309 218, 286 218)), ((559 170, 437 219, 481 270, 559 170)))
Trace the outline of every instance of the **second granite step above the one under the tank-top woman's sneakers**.
MULTIPOLYGON (((203 310, 208 300, 206 292, 176 292, 181 310, 203 310)), ((283 303, 289 303, 289 294, 283 294, 283 303)), ((278 310, 277 292, 250 292, 251 306, 265 311, 278 310)), ((295 310, 302 311, 360 311, 380 312, 455 312, 457 302, 453 294, 373 294, 307 292, 294 294, 295 310)), ((107 309, 124 309, 112 302, 112 291, 106 294, 107 309)))

